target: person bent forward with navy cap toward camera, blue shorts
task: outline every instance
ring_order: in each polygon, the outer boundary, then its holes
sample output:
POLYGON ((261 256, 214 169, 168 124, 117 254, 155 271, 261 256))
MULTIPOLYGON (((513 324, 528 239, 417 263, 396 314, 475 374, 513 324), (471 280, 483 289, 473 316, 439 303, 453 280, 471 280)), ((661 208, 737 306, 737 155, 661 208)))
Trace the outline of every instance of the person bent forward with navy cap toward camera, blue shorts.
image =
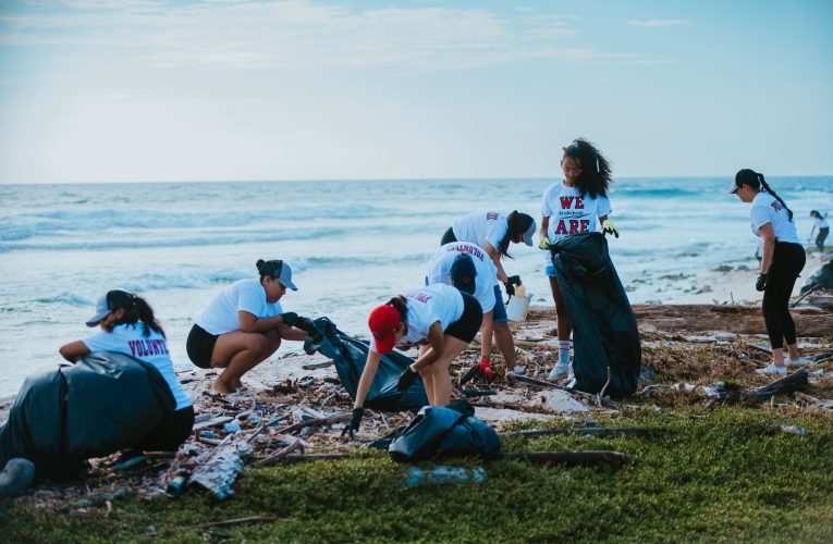
POLYGON ((474 296, 483 310, 483 322, 480 325, 482 343, 480 346, 481 370, 487 380, 493 378, 489 361, 492 349, 492 331, 498 339, 498 347, 506 362, 506 369, 523 372, 515 356, 512 331, 506 319, 506 307, 498 283, 494 263, 483 248, 468 242, 452 242, 441 246, 433 255, 426 275, 428 285, 444 283, 453 285, 463 293, 474 296), (467 257, 467 259, 461 259, 467 257), (487 338, 489 342, 487 342, 487 338), (506 353, 506 349, 510 349, 506 353))

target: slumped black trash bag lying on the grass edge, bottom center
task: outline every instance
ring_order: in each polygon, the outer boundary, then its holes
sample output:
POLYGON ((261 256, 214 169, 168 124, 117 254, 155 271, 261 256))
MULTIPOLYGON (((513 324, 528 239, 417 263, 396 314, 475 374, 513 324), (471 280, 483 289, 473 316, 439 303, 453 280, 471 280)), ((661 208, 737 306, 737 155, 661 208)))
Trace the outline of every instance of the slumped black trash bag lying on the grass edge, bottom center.
POLYGON ((465 400, 426 406, 396 434, 388 453, 400 462, 467 455, 485 460, 503 457, 498 433, 474 415, 475 409, 465 400))

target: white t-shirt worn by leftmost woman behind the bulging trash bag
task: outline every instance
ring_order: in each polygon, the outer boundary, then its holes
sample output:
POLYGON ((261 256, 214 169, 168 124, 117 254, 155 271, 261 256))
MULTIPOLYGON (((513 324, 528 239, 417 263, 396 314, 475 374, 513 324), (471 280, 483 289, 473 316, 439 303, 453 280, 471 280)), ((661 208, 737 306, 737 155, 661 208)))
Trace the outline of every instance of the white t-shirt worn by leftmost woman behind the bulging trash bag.
POLYGON ((173 371, 173 361, 168 351, 168 342, 164 336, 148 329, 148 335, 144 334, 145 325, 142 323, 123 323, 115 325, 111 332, 101 331, 82 342, 90 351, 115 351, 130 355, 156 367, 176 400, 176 409, 181 410, 192 405, 191 395, 185 393, 176 374, 173 371))

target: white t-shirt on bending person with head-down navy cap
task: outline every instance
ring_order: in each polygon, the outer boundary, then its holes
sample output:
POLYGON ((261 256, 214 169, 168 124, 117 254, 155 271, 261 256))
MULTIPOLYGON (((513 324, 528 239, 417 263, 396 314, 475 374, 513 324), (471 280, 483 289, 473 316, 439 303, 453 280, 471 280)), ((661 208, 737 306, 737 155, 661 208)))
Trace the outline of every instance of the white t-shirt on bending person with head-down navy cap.
POLYGON ((441 246, 433 255, 431 264, 428 265, 428 272, 426 273, 428 284, 442 283, 452 285, 451 265, 454 263, 454 259, 463 254, 471 256, 471 261, 475 263, 477 275, 475 276, 474 297, 480 302, 483 312, 488 312, 494 308, 494 286, 498 285, 498 269, 494 267, 489 254, 486 252, 486 249, 477 244, 452 242, 441 246))

